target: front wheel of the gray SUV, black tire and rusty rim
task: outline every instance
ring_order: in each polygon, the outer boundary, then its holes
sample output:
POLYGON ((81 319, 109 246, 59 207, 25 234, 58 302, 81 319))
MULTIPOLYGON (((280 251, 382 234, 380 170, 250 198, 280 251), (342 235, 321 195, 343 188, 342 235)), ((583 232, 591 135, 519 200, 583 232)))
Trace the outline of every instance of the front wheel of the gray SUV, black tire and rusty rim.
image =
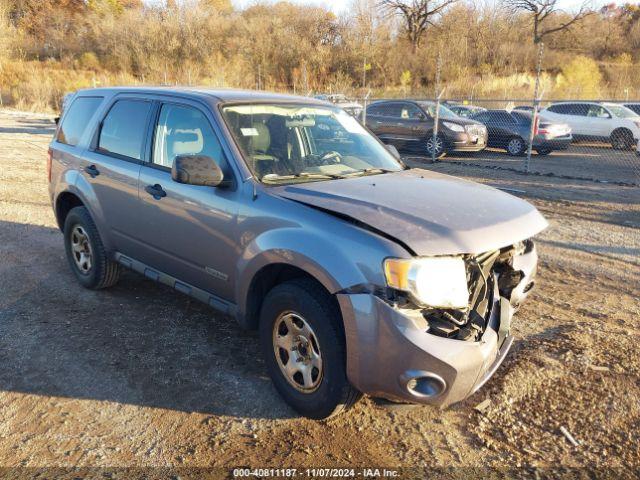
POLYGON ((292 280, 267 294, 260 343, 276 390, 305 417, 335 416, 360 398, 347 379, 340 311, 315 281, 292 280))

